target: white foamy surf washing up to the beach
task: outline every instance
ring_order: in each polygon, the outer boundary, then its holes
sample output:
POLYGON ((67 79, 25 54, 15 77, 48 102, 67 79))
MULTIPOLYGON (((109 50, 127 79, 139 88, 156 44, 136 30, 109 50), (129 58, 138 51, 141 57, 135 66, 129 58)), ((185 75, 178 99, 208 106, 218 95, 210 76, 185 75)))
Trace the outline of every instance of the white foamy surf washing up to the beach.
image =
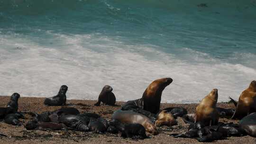
POLYGON ((118 101, 126 101, 141 98, 155 79, 171 77, 174 82, 164 90, 162 102, 198 102, 213 88, 219 89, 219 101, 227 101, 228 96, 238 99, 256 80, 254 68, 189 48, 183 49, 186 59, 155 45, 127 45, 106 36, 52 35, 57 42, 52 46, 0 35, 0 95, 50 97, 66 84, 68 99, 97 99, 108 84, 118 101))

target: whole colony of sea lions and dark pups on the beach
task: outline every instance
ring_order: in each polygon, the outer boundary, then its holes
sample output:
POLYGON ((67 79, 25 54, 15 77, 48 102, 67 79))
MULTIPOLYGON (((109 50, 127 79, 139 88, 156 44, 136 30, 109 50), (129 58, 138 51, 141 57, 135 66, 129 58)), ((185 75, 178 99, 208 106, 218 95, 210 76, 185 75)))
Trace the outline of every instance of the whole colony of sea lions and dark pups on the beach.
MULTIPOLYGON (((201 100, 195 113, 188 114, 182 107, 165 108, 160 110, 162 91, 170 83, 171 78, 163 78, 153 81, 144 91, 141 99, 126 102, 121 109, 112 114, 111 120, 106 120, 95 113, 80 113, 76 108, 60 108, 54 111, 46 111, 41 114, 34 112, 18 112, 18 93, 12 94, 7 107, 0 108, 0 119, 7 124, 24 126, 27 130, 64 130, 69 129, 104 134, 121 133, 122 137, 132 139, 148 138, 146 132, 157 135, 157 127, 176 125, 176 118, 182 117, 185 123, 190 124, 188 131, 181 134, 172 134, 174 137, 196 138, 199 142, 211 142, 224 139, 228 136, 250 135, 256 137, 256 81, 252 81, 244 90, 239 100, 232 98, 236 109, 216 107, 218 90, 213 89, 201 100), (19 121, 30 115, 32 118, 27 124, 19 121), (221 123, 219 117, 240 119, 239 124, 221 123)), ((58 94, 46 98, 47 106, 66 105, 66 85, 61 86, 58 94)), ((103 87, 98 102, 114 106, 116 98, 112 87, 103 87)))

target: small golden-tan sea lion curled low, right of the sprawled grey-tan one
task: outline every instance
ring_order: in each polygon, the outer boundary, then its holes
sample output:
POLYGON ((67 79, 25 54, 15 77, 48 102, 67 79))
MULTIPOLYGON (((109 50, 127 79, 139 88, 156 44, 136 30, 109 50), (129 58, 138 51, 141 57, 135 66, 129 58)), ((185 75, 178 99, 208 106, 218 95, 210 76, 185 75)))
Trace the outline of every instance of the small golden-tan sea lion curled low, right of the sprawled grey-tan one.
POLYGON ((176 120, 168 110, 161 111, 155 121, 155 126, 173 126, 176 120))

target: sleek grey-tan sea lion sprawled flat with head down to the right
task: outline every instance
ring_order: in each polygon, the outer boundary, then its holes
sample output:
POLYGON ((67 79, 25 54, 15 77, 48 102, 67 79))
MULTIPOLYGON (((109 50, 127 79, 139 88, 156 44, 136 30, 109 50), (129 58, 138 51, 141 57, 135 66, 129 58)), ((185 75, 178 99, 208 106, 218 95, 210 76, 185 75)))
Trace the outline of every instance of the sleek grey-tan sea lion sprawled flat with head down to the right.
POLYGON ((145 127, 146 131, 152 133, 153 135, 157 134, 157 130, 155 129, 155 125, 150 121, 150 119, 144 115, 139 113, 129 111, 129 110, 116 110, 112 119, 118 120, 122 123, 138 123, 145 127))

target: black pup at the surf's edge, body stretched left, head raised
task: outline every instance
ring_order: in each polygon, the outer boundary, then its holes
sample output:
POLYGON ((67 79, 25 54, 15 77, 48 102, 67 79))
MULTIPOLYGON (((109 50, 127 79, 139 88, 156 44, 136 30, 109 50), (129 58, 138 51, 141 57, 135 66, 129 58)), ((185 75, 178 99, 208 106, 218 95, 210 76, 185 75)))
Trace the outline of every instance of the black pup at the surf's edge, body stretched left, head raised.
POLYGON ((51 98, 46 98, 44 104, 48 106, 62 106, 66 105, 66 92, 68 87, 66 85, 62 85, 58 94, 51 98))

